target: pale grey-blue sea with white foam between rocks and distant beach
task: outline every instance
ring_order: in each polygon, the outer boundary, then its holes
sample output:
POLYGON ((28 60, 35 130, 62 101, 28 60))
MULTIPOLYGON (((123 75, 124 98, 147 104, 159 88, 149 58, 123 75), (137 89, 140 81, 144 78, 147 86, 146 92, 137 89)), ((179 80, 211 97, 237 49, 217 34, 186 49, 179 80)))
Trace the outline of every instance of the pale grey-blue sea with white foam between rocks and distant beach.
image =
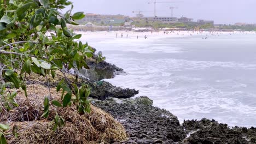
MULTIPOLYGON (((126 75, 108 81, 183 119, 256 127, 256 34, 83 39, 126 75)), ((90 37, 90 35, 88 35, 90 37)))

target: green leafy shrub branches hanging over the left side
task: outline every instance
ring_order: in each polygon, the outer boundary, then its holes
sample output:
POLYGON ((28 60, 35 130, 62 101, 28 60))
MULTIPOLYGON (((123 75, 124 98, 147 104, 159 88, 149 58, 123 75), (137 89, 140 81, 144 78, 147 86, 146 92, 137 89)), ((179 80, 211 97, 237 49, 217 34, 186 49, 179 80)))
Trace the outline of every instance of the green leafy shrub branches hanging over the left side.
MULTIPOLYGON (((57 91, 62 89, 62 101, 51 99, 50 94, 45 97, 42 117, 48 117, 50 104, 56 107, 75 104, 81 115, 90 112, 89 87, 77 87, 65 76, 65 70, 89 69, 86 58, 94 53, 87 43, 75 41, 82 35, 75 35, 66 25, 78 25, 74 21, 82 19, 84 13, 72 15, 73 5, 68 0, 0 0, 0 4, 0 112, 18 106, 16 92, 10 93, 10 88, 23 89, 27 97, 27 75, 36 73, 48 79, 49 74, 55 76, 56 70, 63 74, 63 81, 57 87, 57 91), (68 5, 71 9, 62 15, 60 10, 68 5)), ((54 122, 56 129, 65 120, 56 115, 54 122)), ((8 127, 1 125, 0 143, 4 143, 3 133, 8 127)))

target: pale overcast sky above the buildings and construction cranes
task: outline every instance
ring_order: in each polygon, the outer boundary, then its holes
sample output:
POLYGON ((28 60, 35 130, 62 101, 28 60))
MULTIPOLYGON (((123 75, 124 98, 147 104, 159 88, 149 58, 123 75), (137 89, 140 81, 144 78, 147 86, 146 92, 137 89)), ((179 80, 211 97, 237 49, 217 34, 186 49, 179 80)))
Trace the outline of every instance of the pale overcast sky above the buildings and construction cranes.
MULTIPOLYGON (((122 14, 135 16, 132 11, 146 11, 145 16, 154 16, 155 0, 71 0, 74 11, 95 14, 122 14)), ((246 22, 256 23, 256 0, 157 0, 156 16, 173 16, 214 20, 214 23, 246 22), (171 3, 173 2, 173 3, 171 3)))

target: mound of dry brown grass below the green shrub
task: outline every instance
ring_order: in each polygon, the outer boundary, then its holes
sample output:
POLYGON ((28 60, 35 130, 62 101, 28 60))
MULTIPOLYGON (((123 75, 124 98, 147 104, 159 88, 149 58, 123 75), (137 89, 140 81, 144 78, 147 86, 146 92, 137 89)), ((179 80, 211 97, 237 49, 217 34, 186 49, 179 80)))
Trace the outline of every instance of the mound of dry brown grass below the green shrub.
MULTIPOLYGON (((91 113, 78 115, 75 106, 56 108, 51 106, 48 119, 40 118, 43 113, 44 96, 49 89, 42 85, 27 86, 28 99, 23 91, 16 98, 19 107, 9 113, 0 113, 0 122, 16 125, 19 136, 8 136, 9 143, 109 143, 126 139, 124 127, 108 113, 91 105, 91 113), (52 120, 58 113, 66 119, 66 127, 53 131, 52 120)), ((51 97, 60 100, 61 93, 50 89, 51 97)), ((10 130, 11 131, 11 130, 10 130)))

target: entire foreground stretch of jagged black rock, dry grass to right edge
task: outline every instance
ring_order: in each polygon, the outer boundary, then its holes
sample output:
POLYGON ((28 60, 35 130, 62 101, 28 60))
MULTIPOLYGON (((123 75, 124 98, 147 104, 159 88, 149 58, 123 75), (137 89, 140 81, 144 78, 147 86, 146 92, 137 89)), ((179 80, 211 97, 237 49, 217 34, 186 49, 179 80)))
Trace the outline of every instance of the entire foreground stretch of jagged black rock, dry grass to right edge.
POLYGON ((230 128, 206 118, 184 121, 181 126, 176 116, 152 106, 153 101, 147 97, 108 98, 92 104, 123 124, 130 139, 121 143, 256 143, 256 128, 230 128))

